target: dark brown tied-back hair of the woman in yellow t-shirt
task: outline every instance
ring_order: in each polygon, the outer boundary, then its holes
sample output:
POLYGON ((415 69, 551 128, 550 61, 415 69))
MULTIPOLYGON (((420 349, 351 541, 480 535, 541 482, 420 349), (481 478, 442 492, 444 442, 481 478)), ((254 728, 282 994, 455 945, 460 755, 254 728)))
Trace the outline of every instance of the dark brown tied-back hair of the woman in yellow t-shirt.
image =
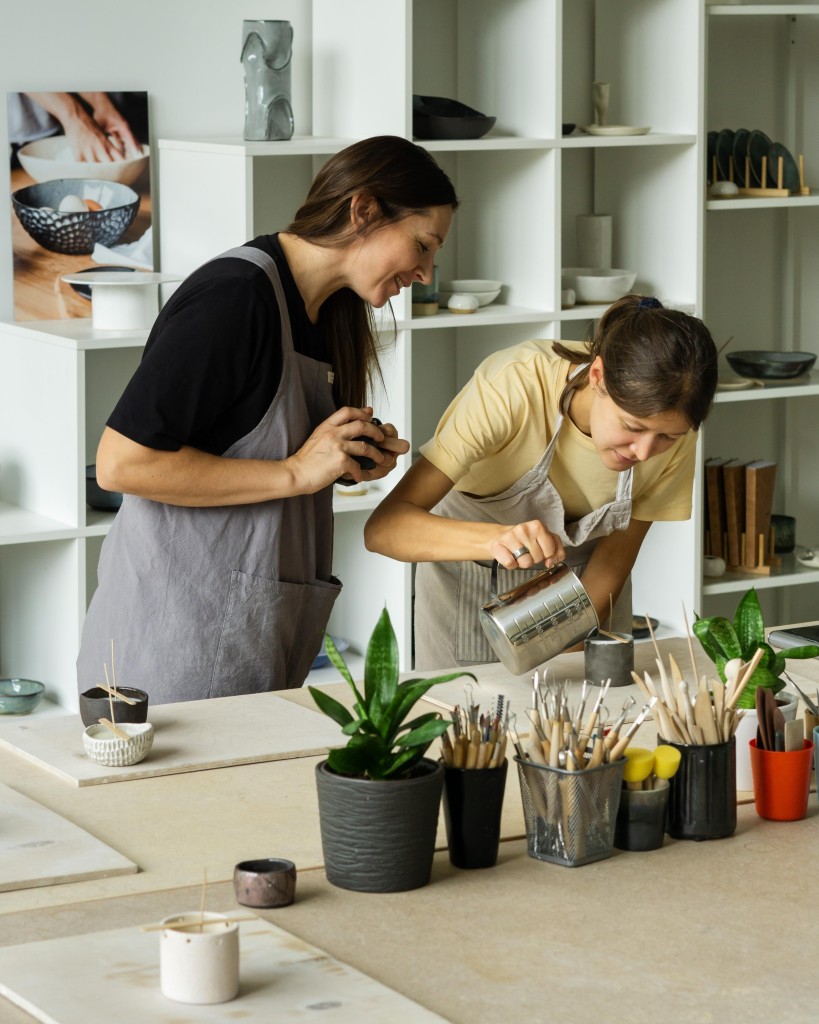
MULTIPOLYGON (((586 351, 555 342, 571 362, 603 360, 603 380, 612 401, 632 416, 681 413, 697 430, 717 390, 717 346, 696 316, 666 309, 657 299, 626 295, 597 322, 586 351)), ((589 371, 566 383, 563 402, 586 387, 589 371)))

